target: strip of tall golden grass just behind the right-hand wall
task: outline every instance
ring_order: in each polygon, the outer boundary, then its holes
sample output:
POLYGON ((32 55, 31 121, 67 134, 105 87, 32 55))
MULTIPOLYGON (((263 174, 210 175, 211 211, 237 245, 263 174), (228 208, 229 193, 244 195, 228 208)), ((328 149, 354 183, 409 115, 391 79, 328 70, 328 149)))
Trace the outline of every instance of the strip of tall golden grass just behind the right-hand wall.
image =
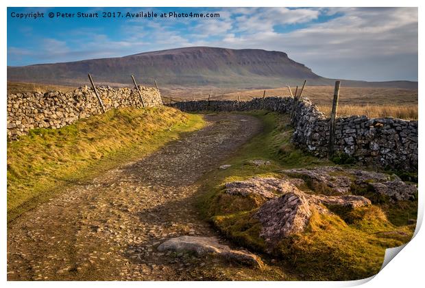
MULTIPOLYGON (((332 106, 317 106, 326 115, 330 115, 332 106)), ((341 105, 338 116, 366 115, 369 118, 394 117, 406 120, 417 120, 417 106, 395 105, 341 105)))

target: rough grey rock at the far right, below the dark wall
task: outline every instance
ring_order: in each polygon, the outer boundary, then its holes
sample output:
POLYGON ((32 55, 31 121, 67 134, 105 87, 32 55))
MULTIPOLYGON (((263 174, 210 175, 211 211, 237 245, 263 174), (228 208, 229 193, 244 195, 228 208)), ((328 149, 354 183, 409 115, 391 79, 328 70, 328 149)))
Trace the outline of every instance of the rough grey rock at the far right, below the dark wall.
POLYGON ((417 193, 417 187, 414 184, 406 184, 400 180, 372 182, 369 183, 369 187, 372 187, 376 193, 391 197, 391 200, 415 200, 417 193))

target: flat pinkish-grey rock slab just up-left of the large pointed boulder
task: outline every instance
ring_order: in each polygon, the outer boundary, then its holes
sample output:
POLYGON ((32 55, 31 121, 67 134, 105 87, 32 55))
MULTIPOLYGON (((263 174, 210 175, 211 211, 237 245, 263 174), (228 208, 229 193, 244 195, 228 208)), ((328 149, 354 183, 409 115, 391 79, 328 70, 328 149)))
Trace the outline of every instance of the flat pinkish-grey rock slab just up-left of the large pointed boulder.
POLYGON ((278 178, 254 177, 245 181, 226 183, 226 193, 230 195, 261 195, 265 198, 276 197, 276 194, 298 190, 289 180, 278 178))

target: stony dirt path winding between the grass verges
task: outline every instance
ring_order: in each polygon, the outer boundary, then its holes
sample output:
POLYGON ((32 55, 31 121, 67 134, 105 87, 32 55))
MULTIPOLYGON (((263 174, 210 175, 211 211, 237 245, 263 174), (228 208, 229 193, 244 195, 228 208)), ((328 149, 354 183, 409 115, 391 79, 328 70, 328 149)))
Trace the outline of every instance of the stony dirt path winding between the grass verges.
POLYGON ((206 119, 206 128, 13 221, 8 280, 249 278, 246 268, 237 266, 231 271, 238 277, 226 275, 217 259, 156 250, 171 237, 217 235, 197 215, 197 179, 260 130, 250 116, 206 119))

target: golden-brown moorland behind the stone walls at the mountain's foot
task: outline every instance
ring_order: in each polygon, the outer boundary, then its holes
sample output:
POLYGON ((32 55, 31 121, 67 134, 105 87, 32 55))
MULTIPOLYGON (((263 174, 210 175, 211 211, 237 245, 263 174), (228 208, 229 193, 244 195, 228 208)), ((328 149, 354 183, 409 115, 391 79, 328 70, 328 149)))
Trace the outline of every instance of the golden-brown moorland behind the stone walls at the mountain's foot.
MULTIPOLYGON (((76 87, 56 86, 33 83, 8 82, 8 93, 40 92, 55 90, 73 91, 76 87)), ((263 97, 264 90, 232 91, 229 88, 204 86, 199 88, 160 87, 165 103, 169 101, 187 101, 192 99, 232 99, 249 101, 254 97, 263 97)), ((292 93, 295 88, 292 87, 292 93)), ((317 105, 319 110, 328 114, 331 110, 334 88, 332 86, 306 86, 303 95, 317 105)), ((288 96, 287 87, 266 90, 266 97, 288 96)), ((344 87, 339 95, 338 115, 367 115, 368 117, 396 117, 417 120, 417 89, 403 88, 361 88, 344 87)))

